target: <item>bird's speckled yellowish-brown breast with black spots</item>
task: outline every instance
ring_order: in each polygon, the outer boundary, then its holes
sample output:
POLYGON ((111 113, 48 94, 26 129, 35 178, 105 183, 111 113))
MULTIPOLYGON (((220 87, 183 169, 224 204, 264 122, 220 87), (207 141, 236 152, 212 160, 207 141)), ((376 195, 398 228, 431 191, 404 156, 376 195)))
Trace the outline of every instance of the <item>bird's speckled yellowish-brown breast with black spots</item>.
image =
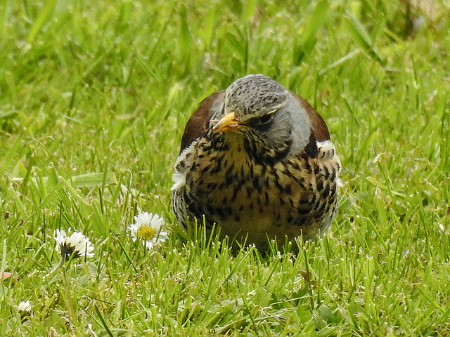
MULTIPOLYGON (((200 142, 191 154, 186 185, 174 191, 177 219, 219 224, 221 237, 265 249, 267 238, 291 241, 323 234, 337 206, 338 161, 305 153, 273 165, 257 163, 238 143, 210 151, 200 142), (229 147, 233 146, 233 149, 229 147), (204 160, 208 158, 208 160, 204 160)), ((183 161, 179 164, 184 165, 183 161)))

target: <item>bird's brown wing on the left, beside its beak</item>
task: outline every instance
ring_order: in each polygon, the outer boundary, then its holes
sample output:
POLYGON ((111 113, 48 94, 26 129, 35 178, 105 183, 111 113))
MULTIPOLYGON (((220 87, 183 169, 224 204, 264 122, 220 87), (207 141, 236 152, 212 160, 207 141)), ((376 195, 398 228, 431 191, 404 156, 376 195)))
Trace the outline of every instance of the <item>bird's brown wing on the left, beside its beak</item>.
POLYGON ((202 100, 198 105, 197 110, 195 110, 189 118, 188 123, 184 128, 183 138, 181 138, 180 153, 207 131, 212 114, 218 108, 221 108, 221 103, 224 101, 224 95, 224 90, 217 91, 202 100))

